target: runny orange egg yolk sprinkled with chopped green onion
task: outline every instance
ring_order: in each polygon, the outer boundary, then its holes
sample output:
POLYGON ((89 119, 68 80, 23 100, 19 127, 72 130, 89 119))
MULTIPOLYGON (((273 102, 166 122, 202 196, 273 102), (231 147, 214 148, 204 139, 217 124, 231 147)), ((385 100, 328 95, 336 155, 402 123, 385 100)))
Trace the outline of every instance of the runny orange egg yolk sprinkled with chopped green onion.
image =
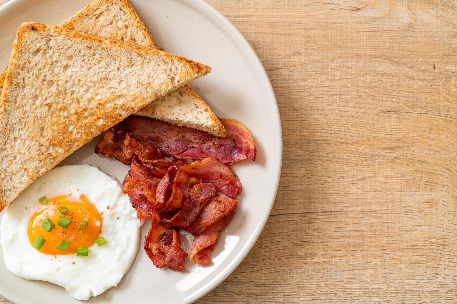
MULTIPOLYGON (((101 232, 101 214, 96 207, 84 196, 76 200, 70 196, 55 196, 48 198, 49 203, 37 210, 28 225, 28 237, 31 245, 38 236, 43 237, 46 242, 40 248, 40 252, 52 255, 63 255, 76 253, 77 247, 90 247, 101 232), (64 215, 59 207, 66 207, 69 211, 64 215), (71 220, 67 228, 60 227, 57 223, 60 217, 71 220), (50 232, 43 227, 43 222, 48 218, 54 225, 50 232), (81 222, 87 222, 87 227, 80 226, 81 222), (80 230, 78 230, 80 226, 80 230), (65 251, 56 247, 62 241, 70 242, 65 251)), ((62 208, 63 209, 63 208, 62 208)), ((65 212, 65 210, 64 210, 65 212)))

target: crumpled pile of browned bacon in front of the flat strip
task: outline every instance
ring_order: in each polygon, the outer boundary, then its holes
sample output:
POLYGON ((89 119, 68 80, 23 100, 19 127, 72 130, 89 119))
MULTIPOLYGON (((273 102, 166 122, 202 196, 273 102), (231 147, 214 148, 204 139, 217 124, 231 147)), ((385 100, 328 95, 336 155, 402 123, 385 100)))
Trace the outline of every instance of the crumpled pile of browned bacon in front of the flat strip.
POLYGON ((122 183, 124 193, 139 219, 151 218, 144 249, 154 265, 185 270, 187 253, 181 249, 178 227, 195 236, 191 261, 210 263, 219 234, 235 213, 238 176, 214 157, 182 165, 180 160, 157 159, 160 151, 133 139, 131 132, 106 132, 108 155, 131 165, 122 183))

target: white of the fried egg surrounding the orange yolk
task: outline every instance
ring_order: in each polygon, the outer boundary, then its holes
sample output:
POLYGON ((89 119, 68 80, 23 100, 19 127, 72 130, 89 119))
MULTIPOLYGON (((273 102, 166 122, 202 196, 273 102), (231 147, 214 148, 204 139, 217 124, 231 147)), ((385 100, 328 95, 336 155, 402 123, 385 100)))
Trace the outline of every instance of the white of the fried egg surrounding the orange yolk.
POLYGON ((128 196, 116 180, 96 167, 71 165, 42 175, 8 206, 0 226, 0 242, 6 267, 12 273, 58 284, 74 299, 87 300, 117 286, 128 272, 138 252, 140 226, 128 196), (89 247, 87 257, 69 254, 54 258, 30 244, 28 223, 41 206, 38 199, 60 194, 76 198, 85 195, 103 212, 100 236, 107 243, 89 247))

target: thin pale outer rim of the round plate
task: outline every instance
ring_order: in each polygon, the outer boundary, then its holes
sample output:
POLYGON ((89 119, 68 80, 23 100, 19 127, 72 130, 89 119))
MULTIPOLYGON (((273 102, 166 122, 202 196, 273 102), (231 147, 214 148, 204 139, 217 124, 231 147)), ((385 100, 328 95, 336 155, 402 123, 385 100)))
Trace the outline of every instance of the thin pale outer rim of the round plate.
MULTIPOLYGON (((33 0, 32 0, 33 1, 33 0)), ((26 6, 27 4, 30 4, 32 2, 31 0, 10 0, 4 5, 0 7, 0 15, 7 14, 8 11, 14 11, 17 6, 26 6)), ((183 1, 183 0, 180 0, 183 1)), ((183 1, 186 2, 186 1, 183 1)), ((238 30, 234 24, 227 19, 221 12, 219 12, 216 8, 214 8, 212 5, 207 3, 204 0, 194 0, 192 3, 187 3, 187 6, 193 6, 195 9, 197 9, 199 6, 206 10, 207 14, 213 15, 216 17, 219 21, 221 21, 221 27, 226 27, 226 31, 233 32, 234 36, 237 38, 237 40, 243 44, 245 50, 250 53, 250 56, 254 58, 254 61, 252 62, 255 64, 256 68, 258 71, 262 74, 261 75, 261 82, 266 84, 266 87, 268 88, 268 94, 272 98, 272 101, 274 101, 276 107, 273 108, 273 113, 272 116, 274 116, 276 122, 279 125, 279 157, 278 161, 276 163, 276 185, 275 185, 275 190, 274 190, 274 195, 271 196, 270 202, 267 205, 268 209, 268 215, 265 216, 261 222, 255 227, 255 230, 251 233, 250 240, 249 242, 246 243, 246 245, 241 249, 241 251, 238 253, 238 255, 234 258, 232 263, 228 265, 223 271, 221 272, 222 275, 214 278, 210 282, 208 282, 206 285, 204 285, 202 288, 191 294, 190 296, 187 296, 187 298, 183 299, 182 303, 183 304, 189 304, 197 301, 198 299, 202 298, 206 294, 208 294, 210 291, 212 291, 214 288, 216 288, 220 283, 222 283, 231 273, 234 272, 234 270, 239 266, 239 264, 246 258, 248 253, 251 251, 252 247, 254 247, 255 243, 257 242, 258 238, 260 237, 261 232, 263 231, 263 228, 266 225, 266 222, 268 221, 268 218, 270 217, 271 210, 273 208, 273 205, 276 201, 276 195, 279 187, 279 181, 281 178, 281 171, 282 171, 282 148, 283 148, 283 142, 282 142, 282 123, 281 123, 281 115, 279 112, 279 107, 278 103, 276 100, 276 94, 274 92, 273 86, 271 85, 270 78, 268 77, 268 74, 266 73, 265 67, 263 66, 262 62, 260 61, 260 58, 258 57, 257 53, 254 51, 253 47, 250 45, 249 41, 243 36, 243 34, 238 30)), ((199 10, 197 10, 199 11, 199 10)), ((260 78, 260 77, 259 77, 260 78)), ((0 294, 4 299, 7 299, 9 301, 10 297, 0 294)))

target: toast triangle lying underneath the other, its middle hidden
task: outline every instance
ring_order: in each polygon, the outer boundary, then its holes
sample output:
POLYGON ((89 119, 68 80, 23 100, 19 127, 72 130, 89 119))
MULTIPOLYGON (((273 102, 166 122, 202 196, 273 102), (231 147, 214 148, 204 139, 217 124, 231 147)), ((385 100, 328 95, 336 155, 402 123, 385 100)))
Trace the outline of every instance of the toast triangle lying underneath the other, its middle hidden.
MULTIPOLYGON (((81 33, 157 48, 143 20, 128 0, 95 0, 67 21, 62 22, 60 26, 81 33)), ((227 132, 211 108, 188 84, 156 99, 137 115, 199 129, 219 137, 227 136, 227 132)))

